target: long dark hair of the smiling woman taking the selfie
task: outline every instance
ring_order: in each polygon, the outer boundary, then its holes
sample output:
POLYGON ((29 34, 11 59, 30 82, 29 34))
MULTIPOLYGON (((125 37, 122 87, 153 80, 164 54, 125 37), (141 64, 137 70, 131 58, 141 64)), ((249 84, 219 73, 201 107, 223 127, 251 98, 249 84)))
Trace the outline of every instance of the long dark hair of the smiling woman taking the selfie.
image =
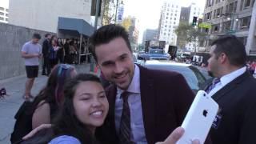
POLYGON ((100 82, 100 79, 93 74, 78 74, 76 77, 70 79, 69 82, 66 82, 64 86, 64 103, 62 110, 58 116, 54 119, 54 134, 55 137, 60 135, 70 135, 82 143, 94 144, 97 143, 94 134, 78 120, 75 110, 74 110, 74 94, 81 82, 100 82))

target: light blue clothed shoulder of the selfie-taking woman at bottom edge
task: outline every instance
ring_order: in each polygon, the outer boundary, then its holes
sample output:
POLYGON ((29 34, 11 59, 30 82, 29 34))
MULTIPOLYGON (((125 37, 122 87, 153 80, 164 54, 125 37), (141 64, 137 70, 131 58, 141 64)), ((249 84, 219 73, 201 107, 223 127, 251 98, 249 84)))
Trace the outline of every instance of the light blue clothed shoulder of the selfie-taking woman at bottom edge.
POLYGON ((62 135, 52 139, 49 144, 81 144, 81 142, 78 140, 78 138, 62 135))

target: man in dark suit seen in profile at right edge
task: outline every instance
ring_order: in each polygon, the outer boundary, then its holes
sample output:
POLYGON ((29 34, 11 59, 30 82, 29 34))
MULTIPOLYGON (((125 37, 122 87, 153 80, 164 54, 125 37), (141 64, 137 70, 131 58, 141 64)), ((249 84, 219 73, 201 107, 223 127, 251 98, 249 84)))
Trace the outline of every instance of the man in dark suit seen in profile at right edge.
POLYGON ((214 144, 256 143, 256 79, 246 71, 246 49, 235 36, 211 45, 208 70, 214 77, 206 88, 219 105, 210 130, 214 144))

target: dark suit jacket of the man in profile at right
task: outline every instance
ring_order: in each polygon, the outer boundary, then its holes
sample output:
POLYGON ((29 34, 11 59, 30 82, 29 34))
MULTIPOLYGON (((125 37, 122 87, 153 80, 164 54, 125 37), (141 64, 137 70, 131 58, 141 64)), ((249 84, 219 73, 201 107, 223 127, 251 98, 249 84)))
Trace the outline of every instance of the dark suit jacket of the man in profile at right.
POLYGON ((218 128, 211 128, 214 144, 256 143, 256 79, 246 71, 235 78, 212 98, 218 103, 222 116, 218 128))

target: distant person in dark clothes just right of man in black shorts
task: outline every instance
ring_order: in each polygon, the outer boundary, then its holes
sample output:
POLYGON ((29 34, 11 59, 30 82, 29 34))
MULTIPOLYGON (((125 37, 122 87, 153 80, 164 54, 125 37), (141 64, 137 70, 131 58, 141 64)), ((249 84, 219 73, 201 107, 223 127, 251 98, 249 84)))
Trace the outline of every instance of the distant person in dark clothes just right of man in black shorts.
POLYGON ((42 56, 43 56, 43 64, 42 64, 42 75, 50 74, 50 64, 49 64, 49 49, 50 49, 50 34, 45 35, 45 40, 42 42, 42 56))

